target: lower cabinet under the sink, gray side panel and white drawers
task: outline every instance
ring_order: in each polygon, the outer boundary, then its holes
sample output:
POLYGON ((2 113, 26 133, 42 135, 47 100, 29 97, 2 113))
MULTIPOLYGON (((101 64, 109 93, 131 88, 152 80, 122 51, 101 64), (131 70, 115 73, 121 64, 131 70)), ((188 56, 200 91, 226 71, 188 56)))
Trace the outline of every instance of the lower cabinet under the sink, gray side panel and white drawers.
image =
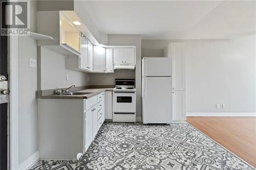
POLYGON ((38 99, 39 157, 77 159, 105 119, 105 93, 89 99, 38 99))

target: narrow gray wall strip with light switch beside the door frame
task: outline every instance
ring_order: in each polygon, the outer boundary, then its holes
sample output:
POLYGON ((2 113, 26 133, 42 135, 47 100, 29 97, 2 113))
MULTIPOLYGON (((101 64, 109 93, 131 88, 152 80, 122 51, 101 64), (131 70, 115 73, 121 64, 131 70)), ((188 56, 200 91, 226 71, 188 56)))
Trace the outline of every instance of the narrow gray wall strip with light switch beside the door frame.
MULTIPOLYGON (((36 30, 37 2, 31 1, 31 30, 36 30)), ((22 163, 38 150, 37 69, 29 67, 36 59, 36 40, 18 37, 18 162, 22 163)))

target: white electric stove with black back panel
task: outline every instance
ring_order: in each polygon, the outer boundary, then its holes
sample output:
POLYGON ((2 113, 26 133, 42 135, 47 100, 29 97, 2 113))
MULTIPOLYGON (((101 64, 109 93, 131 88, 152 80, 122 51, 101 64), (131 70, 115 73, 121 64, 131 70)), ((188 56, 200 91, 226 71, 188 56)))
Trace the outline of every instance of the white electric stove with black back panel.
POLYGON ((113 122, 136 122, 134 79, 116 79, 113 89, 113 122))

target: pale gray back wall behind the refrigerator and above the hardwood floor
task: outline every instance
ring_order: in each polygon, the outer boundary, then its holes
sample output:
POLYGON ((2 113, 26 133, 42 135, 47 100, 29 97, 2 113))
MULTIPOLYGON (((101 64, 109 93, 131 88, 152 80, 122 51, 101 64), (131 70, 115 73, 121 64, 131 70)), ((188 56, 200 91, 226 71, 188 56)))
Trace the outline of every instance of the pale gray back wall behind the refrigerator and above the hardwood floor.
POLYGON ((256 112, 255 35, 230 40, 142 40, 142 56, 163 57, 169 42, 185 43, 187 112, 256 112), (225 109, 216 109, 215 104, 225 104, 225 109))

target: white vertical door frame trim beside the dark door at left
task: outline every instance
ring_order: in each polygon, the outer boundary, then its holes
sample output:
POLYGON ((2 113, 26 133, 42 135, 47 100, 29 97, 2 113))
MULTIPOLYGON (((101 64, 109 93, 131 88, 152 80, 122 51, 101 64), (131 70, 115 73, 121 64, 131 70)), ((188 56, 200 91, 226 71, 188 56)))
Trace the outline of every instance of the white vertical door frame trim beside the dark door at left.
POLYGON ((9 37, 10 169, 18 169, 18 37, 9 37))

